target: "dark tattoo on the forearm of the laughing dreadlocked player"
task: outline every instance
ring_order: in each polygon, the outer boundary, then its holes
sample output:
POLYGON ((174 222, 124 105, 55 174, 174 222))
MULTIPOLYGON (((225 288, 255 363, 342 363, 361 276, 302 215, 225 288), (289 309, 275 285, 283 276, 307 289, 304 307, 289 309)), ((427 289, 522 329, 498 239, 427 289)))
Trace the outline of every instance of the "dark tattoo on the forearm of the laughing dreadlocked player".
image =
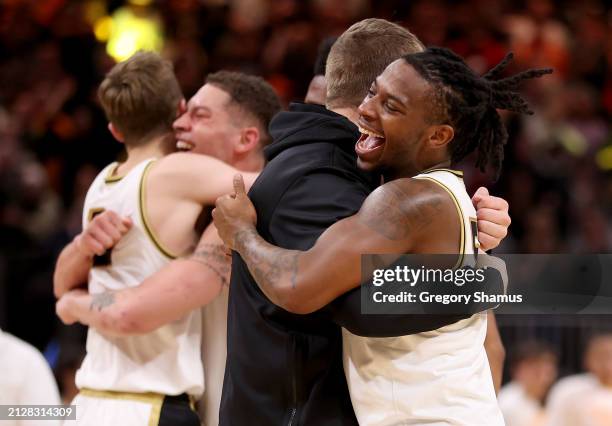
POLYGON ((266 295, 273 296, 276 289, 286 282, 291 283, 291 288, 296 287, 301 252, 274 247, 255 229, 236 235, 236 249, 266 295))

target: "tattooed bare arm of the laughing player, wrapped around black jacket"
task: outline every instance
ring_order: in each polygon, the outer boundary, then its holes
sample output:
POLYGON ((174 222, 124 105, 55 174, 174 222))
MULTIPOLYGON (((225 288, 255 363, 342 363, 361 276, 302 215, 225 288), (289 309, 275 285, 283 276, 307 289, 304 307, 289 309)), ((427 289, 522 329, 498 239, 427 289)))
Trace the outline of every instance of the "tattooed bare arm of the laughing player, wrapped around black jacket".
POLYGON ((282 249, 261 238, 240 184, 235 197, 217 202, 214 217, 226 245, 241 255, 264 294, 290 312, 310 313, 360 284, 362 254, 409 252, 420 235, 439 228, 438 217, 456 215, 454 208, 430 182, 390 182, 307 251, 282 249))

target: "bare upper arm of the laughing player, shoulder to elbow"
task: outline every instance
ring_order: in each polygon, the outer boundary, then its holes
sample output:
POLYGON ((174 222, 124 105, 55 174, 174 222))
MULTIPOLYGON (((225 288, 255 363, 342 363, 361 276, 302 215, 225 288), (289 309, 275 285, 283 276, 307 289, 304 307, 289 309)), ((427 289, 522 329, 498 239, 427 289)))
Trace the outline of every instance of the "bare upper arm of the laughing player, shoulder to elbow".
POLYGON ((418 192, 422 192, 420 183, 412 181, 378 188, 356 215, 332 225, 300 256, 296 282, 308 287, 300 294, 308 311, 359 285, 362 255, 408 253, 419 236, 428 233, 438 210, 433 202, 437 198, 423 199, 418 192))

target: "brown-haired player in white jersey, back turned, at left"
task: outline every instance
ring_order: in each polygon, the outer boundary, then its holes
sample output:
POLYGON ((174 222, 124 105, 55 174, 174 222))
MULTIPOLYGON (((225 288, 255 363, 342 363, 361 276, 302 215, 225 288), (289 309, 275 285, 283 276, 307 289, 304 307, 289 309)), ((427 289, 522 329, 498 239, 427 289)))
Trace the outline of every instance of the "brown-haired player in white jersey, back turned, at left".
MULTIPOLYGON (((108 222, 118 229, 131 229, 119 241, 121 233, 109 228, 112 238, 98 235, 102 245, 96 245, 100 241, 95 234, 85 231, 60 255, 56 294, 88 281, 92 295, 88 310, 114 303, 112 291, 136 286, 171 259, 190 253, 202 206, 231 189, 236 171, 208 156, 165 156, 173 150, 171 126, 182 96, 171 65, 158 55, 141 52, 117 64, 98 93, 109 129, 126 145, 128 156, 124 163, 106 167, 92 183, 85 200, 84 228, 106 212, 108 222), (81 266, 75 272, 72 265, 77 264, 81 266)), ((210 117, 205 107, 195 110, 192 113, 198 116, 218 119, 210 117)), ((259 132, 257 126, 240 132, 235 142, 242 155, 237 157, 246 158, 257 145, 259 132)), ((178 144, 193 147, 191 141, 178 144)), ((207 253, 214 256, 214 248, 207 253)), ((208 301, 219 293, 220 285, 211 280, 195 290, 208 301)), ((199 425, 192 402, 203 391, 200 336, 199 310, 139 336, 112 335, 90 327, 87 355, 76 377, 77 424, 199 425)))

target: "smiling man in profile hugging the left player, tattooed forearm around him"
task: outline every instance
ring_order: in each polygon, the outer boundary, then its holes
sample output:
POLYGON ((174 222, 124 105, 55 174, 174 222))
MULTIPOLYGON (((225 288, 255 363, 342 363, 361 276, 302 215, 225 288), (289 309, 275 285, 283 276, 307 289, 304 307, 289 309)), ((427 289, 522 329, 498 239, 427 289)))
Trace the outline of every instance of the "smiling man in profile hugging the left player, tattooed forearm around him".
MULTIPOLYGON (((239 170, 258 171, 264 163, 262 148, 270 141, 268 124, 279 110, 274 90, 261 78, 227 71, 210 74, 174 122, 177 144, 191 153, 221 158, 239 170), (253 143, 244 144, 243 135, 253 143)), ((127 232, 115 225, 121 223, 115 216, 114 221, 89 224, 81 238, 99 246, 105 239, 115 241, 114 236, 127 232)), ((207 303, 207 287, 229 280, 230 258, 212 231, 206 231, 193 255, 173 260, 141 285, 108 292, 113 303, 91 309, 92 296, 73 290, 58 302, 58 314, 66 323, 79 321, 110 335, 149 333, 180 319, 207 303)), ((225 367, 228 289, 221 288, 220 296, 202 310, 205 390, 199 412, 208 425, 218 424, 225 367)))

